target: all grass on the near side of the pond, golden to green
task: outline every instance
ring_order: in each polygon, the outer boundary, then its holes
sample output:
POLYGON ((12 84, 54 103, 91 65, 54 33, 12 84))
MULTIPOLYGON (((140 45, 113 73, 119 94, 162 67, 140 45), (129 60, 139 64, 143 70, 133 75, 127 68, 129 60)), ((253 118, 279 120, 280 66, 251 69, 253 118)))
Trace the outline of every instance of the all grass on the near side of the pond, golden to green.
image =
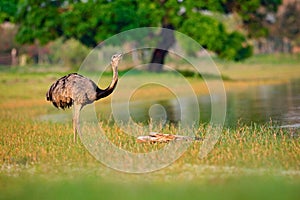
MULTIPOLYGON (((71 123, 36 121, 34 117, 45 108, 1 111, 0 191, 5 199, 29 199, 32 195, 46 199, 180 199, 199 195, 263 199, 266 192, 268 197, 297 199, 299 195, 299 137, 272 124, 224 129, 204 159, 198 157, 203 141, 195 141, 171 166, 131 175, 105 167, 81 143, 74 144, 71 123)), ((115 145, 132 152, 149 152, 164 145, 137 143, 112 122, 100 125, 115 145)), ((197 133, 205 136, 208 128, 201 125, 197 133)), ((176 133, 174 127, 166 129, 176 133)))

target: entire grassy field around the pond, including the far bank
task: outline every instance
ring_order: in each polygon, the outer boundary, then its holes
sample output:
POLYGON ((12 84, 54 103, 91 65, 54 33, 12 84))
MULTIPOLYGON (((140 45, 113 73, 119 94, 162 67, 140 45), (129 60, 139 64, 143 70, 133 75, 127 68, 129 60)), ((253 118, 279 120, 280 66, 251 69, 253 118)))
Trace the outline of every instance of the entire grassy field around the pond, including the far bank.
MULTIPOLYGON (((226 90, 299 78, 297 61, 275 62, 274 66, 272 62, 254 58, 247 63, 220 66, 222 73, 230 77, 225 82, 226 90), (245 69, 249 71, 245 73, 245 69), (284 76, 279 76, 279 72, 284 76)), ((40 120, 40 116, 62 113, 45 101, 45 93, 53 81, 67 73, 45 71, 32 68, 0 71, 0 199, 298 199, 300 196, 299 136, 288 129, 274 128, 271 122, 224 129, 215 148, 203 159, 198 157, 203 142, 196 141, 175 163, 159 171, 127 174, 110 169, 98 162, 82 143, 72 142, 71 119, 61 123, 40 120)), ((153 74, 137 76, 145 77, 155 79, 153 74)), ((168 74, 158 78, 176 82, 176 77, 168 74)), ((109 81, 110 76, 105 76, 100 85, 109 81)), ((188 81, 197 93, 207 92, 203 81, 196 78, 188 81)), ((168 98, 168 91, 159 88, 155 91, 160 95, 151 98, 168 98)), ((138 96, 150 98, 143 88, 138 96)), ((99 104, 109 110, 109 102, 106 99, 99 104)), ((120 148, 147 152, 164 146, 137 143, 110 121, 104 120, 102 125, 107 137, 120 148)), ((209 125, 202 124, 195 131, 202 136, 208 128, 209 125)))

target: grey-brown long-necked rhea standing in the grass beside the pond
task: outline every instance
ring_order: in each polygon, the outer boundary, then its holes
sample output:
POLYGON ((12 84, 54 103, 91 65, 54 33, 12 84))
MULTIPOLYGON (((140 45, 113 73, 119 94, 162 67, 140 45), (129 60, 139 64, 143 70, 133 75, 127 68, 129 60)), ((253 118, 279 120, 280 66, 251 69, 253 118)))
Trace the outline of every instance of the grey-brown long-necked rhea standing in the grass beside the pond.
POLYGON ((115 54, 111 57, 113 78, 106 89, 100 89, 96 83, 77 73, 71 73, 55 81, 46 94, 47 101, 51 101, 57 108, 74 107, 73 112, 73 133, 74 142, 79 132, 79 114, 81 109, 94 101, 110 95, 116 88, 118 82, 118 64, 122 54, 115 54))

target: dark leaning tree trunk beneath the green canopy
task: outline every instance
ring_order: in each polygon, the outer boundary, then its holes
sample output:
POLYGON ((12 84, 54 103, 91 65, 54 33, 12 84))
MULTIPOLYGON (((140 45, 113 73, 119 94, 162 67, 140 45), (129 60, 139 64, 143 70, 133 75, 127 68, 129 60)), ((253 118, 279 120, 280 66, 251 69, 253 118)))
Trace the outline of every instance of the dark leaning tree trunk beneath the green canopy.
POLYGON ((152 53, 148 70, 152 72, 161 72, 165 57, 168 54, 168 49, 175 43, 174 27, 171 24, 166 24, 160 33, 160 41, 152 53))

